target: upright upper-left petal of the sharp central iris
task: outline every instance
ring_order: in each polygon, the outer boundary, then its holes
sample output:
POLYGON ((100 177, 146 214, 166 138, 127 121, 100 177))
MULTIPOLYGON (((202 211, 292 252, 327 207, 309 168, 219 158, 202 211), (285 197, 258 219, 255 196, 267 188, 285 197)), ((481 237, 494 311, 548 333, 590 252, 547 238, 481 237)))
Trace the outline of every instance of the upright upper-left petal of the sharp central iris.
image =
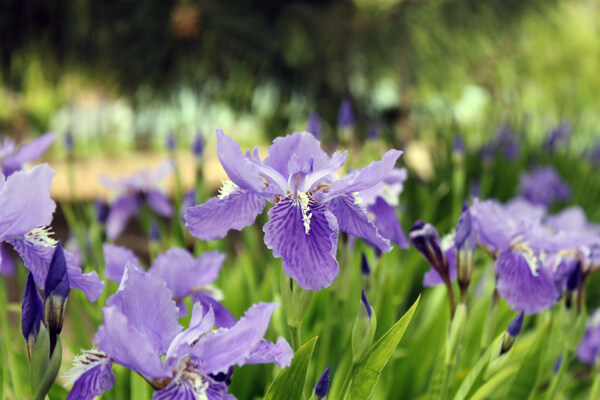
POLYGON ((260 193, 265 187, 258 171, 244 153, 240 145, 217 129, 217 155, 229 179, 240 188, 260 193))

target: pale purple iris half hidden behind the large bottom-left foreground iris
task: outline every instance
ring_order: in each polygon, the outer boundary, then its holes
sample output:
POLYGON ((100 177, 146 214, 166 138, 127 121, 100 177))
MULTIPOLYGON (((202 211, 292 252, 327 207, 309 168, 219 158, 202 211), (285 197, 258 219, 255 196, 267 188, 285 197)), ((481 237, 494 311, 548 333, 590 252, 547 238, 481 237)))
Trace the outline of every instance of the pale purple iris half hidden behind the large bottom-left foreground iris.
MULTIPOLYGON (((105 243, 103 245, 106 263, 106 277, 120 282, 125 265, 141 266, 140 260, 128 248, 105 243)), ((180 247, 173 247, 160 254, 148 273, 161 278, 173 294, 173 300, 179 307, 180 315, 187 315, 183 300, 190 297, 194 303, 202 304, 205 312, 213 309, 217 326, 229 328, 235 324, 235 318, 220 301, 222 292, 213 286, 225 261, 225 254, 209 251, 194 258, 190 252, 180 247)))

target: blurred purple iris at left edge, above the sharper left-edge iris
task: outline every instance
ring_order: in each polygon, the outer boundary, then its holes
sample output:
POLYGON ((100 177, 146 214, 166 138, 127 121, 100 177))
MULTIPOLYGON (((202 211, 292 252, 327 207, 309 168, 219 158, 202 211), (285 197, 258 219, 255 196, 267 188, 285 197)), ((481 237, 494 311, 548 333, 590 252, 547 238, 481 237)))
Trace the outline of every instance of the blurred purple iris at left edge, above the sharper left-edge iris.
POLYGON ((10 176, 23 168, 23 164, 37 160, 54 142, 53 132, 43 134, 37 139, 19 147, 14 141, 6 138, 0 143, 0 165, 4 176, 10 176))

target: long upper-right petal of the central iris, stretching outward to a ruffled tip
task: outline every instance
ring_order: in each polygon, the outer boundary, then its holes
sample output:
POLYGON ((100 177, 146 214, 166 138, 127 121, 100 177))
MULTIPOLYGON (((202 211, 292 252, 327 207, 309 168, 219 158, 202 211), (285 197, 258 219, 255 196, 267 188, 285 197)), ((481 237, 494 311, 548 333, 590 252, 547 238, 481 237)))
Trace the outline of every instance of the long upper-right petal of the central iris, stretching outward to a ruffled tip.
POLYGON ((353 171, 346 177, 335 181, 329 188, 327 198, 343 193, 360 192, 376 185, 390 174, 400 155, 402 155, 400 150, 388 150, 381 160, 373 161, 366 167, 353 171))

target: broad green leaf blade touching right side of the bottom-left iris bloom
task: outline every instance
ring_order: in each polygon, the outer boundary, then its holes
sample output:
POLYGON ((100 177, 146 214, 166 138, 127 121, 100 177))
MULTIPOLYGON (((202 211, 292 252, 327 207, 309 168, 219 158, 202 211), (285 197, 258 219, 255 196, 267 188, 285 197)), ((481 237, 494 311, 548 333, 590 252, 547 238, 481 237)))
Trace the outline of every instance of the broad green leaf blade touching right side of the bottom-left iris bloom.
POLYGON ((265 400, 302 400, 306 371, 308 370, 308 364, 312 358, 317 338, 312 338, 294 353, 292 365, 277 375, 277 378, 275 378, 265 396, 265 400))

